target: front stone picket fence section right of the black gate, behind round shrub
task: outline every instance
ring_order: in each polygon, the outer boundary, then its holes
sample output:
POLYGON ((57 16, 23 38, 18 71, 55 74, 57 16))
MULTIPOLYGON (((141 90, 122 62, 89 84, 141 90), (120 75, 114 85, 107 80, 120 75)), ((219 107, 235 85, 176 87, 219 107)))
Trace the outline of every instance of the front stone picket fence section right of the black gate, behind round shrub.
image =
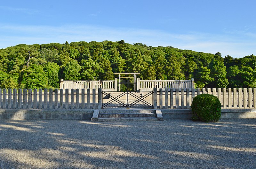
MULTIPOLYGON (((156 88, 154 88, 156 90, 156 88)), ((159 109, 190 109, 193 97, 200 94, 210 94, 217 96, 222 109, 256 109, 256 88, 181 88, 169 91, 159 89, 154 97, 154 108, 159 109), (166 103, 166 104, 165 104, 166 103)))

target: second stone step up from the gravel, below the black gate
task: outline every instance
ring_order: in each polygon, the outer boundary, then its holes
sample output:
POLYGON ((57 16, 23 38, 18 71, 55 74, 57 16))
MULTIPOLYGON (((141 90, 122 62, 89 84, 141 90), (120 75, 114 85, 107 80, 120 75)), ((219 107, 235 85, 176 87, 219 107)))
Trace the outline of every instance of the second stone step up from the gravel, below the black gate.
POLYGON ((156 117, 156 113, 100 113, 99 117, 156 117))

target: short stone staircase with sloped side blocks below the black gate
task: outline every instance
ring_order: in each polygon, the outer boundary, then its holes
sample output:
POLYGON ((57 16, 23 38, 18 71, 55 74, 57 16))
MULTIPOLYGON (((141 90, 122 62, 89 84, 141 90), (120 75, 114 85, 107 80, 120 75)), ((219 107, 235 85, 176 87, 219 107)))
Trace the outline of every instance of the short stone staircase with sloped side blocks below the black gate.
POLYGON ((96 109, 91 121, 162 121, 161 110, 155 109, 96 109))

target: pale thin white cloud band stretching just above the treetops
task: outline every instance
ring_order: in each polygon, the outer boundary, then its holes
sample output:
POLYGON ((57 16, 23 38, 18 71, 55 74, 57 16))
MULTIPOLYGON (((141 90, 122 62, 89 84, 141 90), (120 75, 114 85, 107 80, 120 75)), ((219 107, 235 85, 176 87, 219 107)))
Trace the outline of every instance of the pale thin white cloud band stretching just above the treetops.
MULTIPOLYGON (((248 33, 248 32, 246 32, 248 33)), ((143 43, 147 46, 173 46, 197 52, 217 53, 222 56, 244 57, 256 53, 256 42, 241 41, 232 34, 216 35, 201 32, 171 34, 161 30, 113 28, 95 25, 0 25, 0 48, 18 44, 64 43, 76 41, 120 41, 143 43), (252 51, 252 49, 254 51, 252 51)))

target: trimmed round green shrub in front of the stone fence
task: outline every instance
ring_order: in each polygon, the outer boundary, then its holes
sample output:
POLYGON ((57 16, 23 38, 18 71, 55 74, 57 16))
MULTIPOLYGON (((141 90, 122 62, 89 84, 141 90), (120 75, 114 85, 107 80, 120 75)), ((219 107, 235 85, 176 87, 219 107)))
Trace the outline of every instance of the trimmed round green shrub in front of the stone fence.
POLYGON ((221 104, 214 95, 197 95, 192 101, 191 109, 194 121, 214 122, 220 119, 221 104))

